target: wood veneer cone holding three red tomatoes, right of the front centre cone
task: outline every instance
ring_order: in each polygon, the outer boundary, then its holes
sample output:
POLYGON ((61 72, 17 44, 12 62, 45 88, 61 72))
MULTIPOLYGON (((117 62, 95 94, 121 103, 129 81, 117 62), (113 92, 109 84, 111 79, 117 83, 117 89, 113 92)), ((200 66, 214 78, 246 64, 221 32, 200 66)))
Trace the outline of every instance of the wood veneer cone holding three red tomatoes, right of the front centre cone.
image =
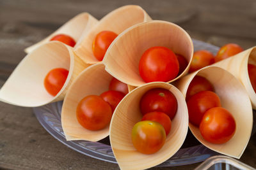
POLYGON ((220 97, 221 106, 230 111, 236 120, 236 132, 227 143, 213 144, 202 137, 199 128, 195 125, 189 123, 189 129, 207 148, 239 159, 248 144, 253 125, 252 104, 246 90, 228 71, 220 67, 208 66, 175 81, 175 86, 185 98, 189 84, 196 75, 203 76, 212 83, 216 94, 220 97))

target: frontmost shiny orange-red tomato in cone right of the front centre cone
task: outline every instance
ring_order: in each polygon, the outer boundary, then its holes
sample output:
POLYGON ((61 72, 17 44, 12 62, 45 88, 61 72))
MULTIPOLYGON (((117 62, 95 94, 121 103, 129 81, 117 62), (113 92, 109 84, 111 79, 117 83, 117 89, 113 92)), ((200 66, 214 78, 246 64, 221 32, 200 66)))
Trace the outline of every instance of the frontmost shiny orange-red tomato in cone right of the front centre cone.
POLYGON ((200 124, 203 138, 211 143, 226 143, 234 136, 236 121, 225 108, 217 107, 207 110, 200 124))

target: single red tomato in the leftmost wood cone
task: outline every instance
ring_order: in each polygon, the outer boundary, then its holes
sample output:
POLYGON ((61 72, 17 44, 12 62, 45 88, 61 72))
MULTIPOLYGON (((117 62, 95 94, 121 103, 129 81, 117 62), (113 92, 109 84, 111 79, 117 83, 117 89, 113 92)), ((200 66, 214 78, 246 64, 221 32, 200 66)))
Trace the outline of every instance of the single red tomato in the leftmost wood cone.
POLYGON ((44 78, 44 87, 52 96, 56 96, 62 89, 68 77, 68 70, 63 68, 52 69, 44 78))

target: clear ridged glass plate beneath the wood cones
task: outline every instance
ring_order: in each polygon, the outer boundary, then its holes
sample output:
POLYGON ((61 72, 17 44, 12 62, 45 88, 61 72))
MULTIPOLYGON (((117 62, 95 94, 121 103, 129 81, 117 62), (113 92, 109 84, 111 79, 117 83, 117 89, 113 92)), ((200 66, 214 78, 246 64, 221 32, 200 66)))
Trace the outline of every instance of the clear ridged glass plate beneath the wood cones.
MULTIPOLYGON (((195 50, 209 50, 210 52, 216 54, 219 50, 217 46, 204 43, 193 39, 195 50)), ((63 101, 50 103, 45 106, 40 106, 33 108, 33 111, 36 115, 36 118, 42 124, 44 129, 49 132, 54 138, 58 139, 64 145, 67 145, 69 148, 76 150, 79 153, 83 153, 89 157, 95 159, 104 160, 107 162, 117 163, 116 159, 111 150, 109 144, 109 138, 102 139, 98 142, 90 141, 67 141, 64 136, 63 129, 61 127, 61 107, 63 101)), ((196 162, 204 161, 205 159, 213 156, 220 155, 204 145, 201 145, 191 134, 188 132, 184 144, 180 150, 173 155, 170 159, 166 160, 162 164, 159 164, 159 167, 167 166, 181 166, 186 164, 193 164, 196 162)))

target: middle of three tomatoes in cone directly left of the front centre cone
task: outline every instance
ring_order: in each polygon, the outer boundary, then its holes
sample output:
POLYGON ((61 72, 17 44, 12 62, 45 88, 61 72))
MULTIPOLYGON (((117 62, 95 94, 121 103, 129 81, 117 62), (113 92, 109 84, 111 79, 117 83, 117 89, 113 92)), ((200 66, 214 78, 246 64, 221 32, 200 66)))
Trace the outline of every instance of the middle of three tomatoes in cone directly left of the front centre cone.
POLYGON ((122 92, 118 92, 115 90, 108 90, 102 94, 100 94, 100 97, 111 106, 112 111, 115 111, 115 108, 118 103, 124 98, 125 94, 122 92))

